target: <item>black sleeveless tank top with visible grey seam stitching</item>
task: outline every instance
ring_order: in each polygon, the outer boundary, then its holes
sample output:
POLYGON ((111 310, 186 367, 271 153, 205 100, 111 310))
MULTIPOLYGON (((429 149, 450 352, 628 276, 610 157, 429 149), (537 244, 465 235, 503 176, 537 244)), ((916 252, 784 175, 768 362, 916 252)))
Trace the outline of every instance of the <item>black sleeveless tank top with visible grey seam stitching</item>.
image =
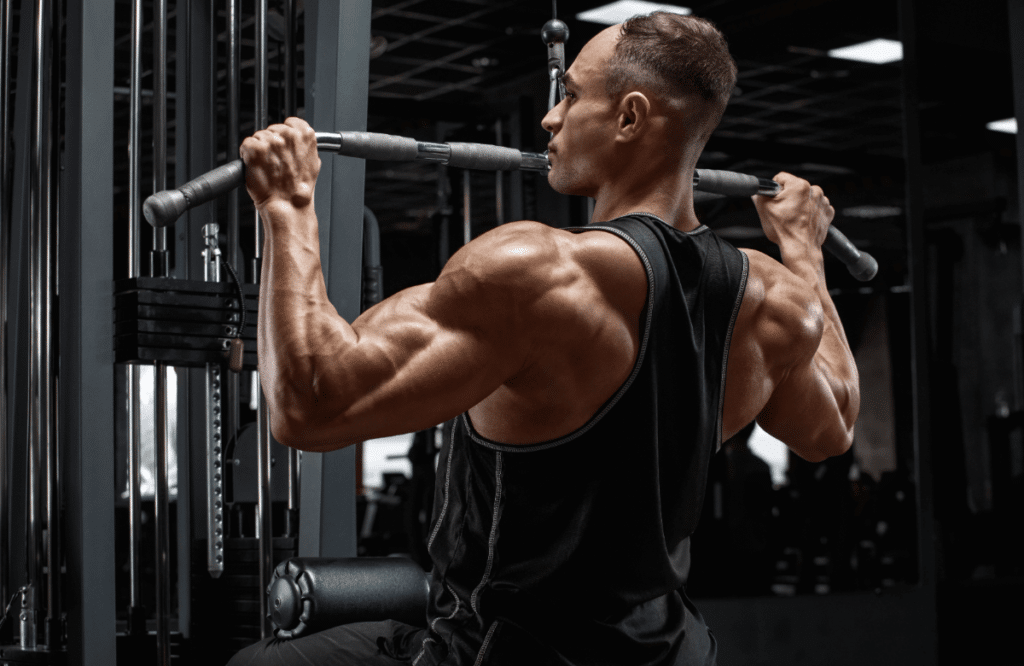
POLYGON ((683 585, 746 256, 707 226, 647 214, 568 231, 614 234, 646 266, 636 365, 555 441, 507 446, 458 417, 437 464, 414 666, 715 663, 683 585))

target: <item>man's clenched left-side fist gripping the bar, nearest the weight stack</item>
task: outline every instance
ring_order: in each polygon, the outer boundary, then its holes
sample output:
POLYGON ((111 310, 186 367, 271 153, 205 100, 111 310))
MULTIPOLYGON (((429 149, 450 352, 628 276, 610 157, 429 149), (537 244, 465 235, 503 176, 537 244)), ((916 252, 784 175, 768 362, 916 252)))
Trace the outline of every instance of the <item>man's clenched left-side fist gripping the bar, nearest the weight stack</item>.
POLYGON ((257 209, 274 201, 296 208, 312 203, 321 160, 316 132, 306 121, 289 118, 261 129, 242 142, 239 155, 246 163, 246 190, 257 209))

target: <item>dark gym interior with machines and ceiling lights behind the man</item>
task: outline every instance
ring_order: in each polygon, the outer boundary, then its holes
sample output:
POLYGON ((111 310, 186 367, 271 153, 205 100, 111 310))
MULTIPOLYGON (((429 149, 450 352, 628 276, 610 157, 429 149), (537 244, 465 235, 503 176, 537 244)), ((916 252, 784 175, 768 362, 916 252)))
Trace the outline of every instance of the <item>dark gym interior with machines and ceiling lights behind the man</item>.
MULTIPOLYGON (((429 570, 451 423, 275 442, 252 201, 163 228, 142 201, 289 116, 543 154, 542 29, 566 24, 571 64, 604 4, 0 0, 0 666, 219 666, 280 630, 267 588, 289 558, 429 570)), ((820 185, 878 261, 858 280, 825 255, 860 373, 852 449, 810 463, 752 424, 712 461, 686 588, 719 664, 1024 664, 1024 145, 993 125, 1024 109, 1024 0, 678 4, 738 67, 698 168, 820 185), (901 54, 829 55, 876 39, 901 54)), ((525 169, 322 159, 348 321, 499 224, 592 211, 525 169)), ((696 212, 778 258, 750 198, 696 212)))

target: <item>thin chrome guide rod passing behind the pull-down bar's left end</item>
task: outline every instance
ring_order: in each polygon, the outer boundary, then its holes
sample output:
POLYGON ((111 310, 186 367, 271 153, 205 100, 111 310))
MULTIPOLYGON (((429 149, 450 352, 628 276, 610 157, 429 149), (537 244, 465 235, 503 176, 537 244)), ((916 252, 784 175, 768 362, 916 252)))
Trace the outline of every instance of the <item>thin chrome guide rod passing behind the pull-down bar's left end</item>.
MULTIPOLYGON (((167 186, 167 0, 156 0, 154 7, 153 55, 153 173, 154 192, 167 186)), ((153 239, 152 273, 155 277, 167 275, 167 230, 157 230, 153 239)), ((171 663, 171 567, 170 567, 170 510, 167 467, 167 366, 157 364, 157 473, 154 518, 156 524, 157 554, 157 662, 160 666, 171 663)))

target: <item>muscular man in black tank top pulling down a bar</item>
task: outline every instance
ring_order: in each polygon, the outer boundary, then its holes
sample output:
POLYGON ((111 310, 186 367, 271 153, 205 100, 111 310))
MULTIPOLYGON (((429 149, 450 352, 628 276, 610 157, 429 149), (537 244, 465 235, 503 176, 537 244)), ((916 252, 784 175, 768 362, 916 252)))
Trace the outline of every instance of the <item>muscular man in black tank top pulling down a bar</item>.
POLYGON ((703 20, 655 13, 591 40, 565 76, 549 181, 587 227, 500 226, 437 281, 351 324, 319 266, 312 130, 242 147, 267 228, 260 377, 304 451, 457 418, 428 548, 429 628, 268 639, 232 664, 713 664, 682 586, 709 460, 755 418, 808 460, 846 451, 858 378, 824 285, 834 211, 779 174, 755 198, 782 263, 696 219, 693 168, 735 81, 703 20))

